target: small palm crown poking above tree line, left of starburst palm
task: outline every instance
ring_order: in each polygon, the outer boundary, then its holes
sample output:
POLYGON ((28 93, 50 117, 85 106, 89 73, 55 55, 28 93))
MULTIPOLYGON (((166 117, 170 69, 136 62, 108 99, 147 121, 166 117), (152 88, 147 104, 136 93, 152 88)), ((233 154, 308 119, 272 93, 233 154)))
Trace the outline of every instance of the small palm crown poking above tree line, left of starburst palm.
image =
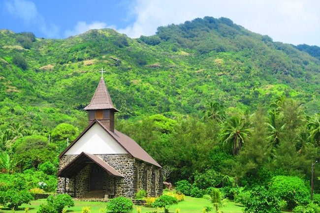
POLYGON ((202 119, 214 119, 219 122, 223 122, 225 119, 225 113, 224 113, 224 105, 212 101, 209 102, 206 106, 205 109, 202 110, 203 117, 202 119))

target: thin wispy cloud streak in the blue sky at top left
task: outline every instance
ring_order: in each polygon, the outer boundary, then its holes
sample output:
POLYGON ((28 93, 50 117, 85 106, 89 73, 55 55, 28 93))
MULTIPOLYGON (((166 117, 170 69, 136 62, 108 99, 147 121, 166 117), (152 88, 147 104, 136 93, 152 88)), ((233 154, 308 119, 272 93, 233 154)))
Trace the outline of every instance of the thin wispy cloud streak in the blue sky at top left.
POLYGON ((59 28, 51 23, 49 26, 43 16, 37 11, 35 4, 30 0, 13 0, 4 3, 9 14, 16 16, 27 25, 34 25, 47 37, 59 37, 59 28))

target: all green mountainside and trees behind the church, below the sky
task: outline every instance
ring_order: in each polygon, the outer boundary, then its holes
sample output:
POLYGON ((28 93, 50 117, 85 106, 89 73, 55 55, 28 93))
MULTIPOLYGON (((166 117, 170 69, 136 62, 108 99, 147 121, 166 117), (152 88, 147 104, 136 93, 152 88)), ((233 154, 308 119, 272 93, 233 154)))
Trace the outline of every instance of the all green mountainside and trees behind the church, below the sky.
MULTIPOLYGON (((218 187, 230 199, 251 190, 251 199, 278 202, 269 191, 279 177, 310 189, 320 160, 320 61, 307 48, 310 55, 212 17, 138 39, 114 30, 62 40, 0 30, 0 46, 0 192, 55 190, 57 156, 88 123, 82 109, 101 67, 121 111, 117 129, 190 195, 218 187)), ((319 193, 319 164, 315 177, 319 193)))

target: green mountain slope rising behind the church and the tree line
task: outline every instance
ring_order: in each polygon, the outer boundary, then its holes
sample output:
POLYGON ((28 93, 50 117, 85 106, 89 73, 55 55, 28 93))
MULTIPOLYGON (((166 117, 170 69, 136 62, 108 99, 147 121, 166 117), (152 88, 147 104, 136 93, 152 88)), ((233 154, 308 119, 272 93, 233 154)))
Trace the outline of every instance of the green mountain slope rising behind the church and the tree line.
POLYGON ((204 17, 131 39, 90 30, 67 39, 0 30, 0 128, 83 127, 103 67, 118 118, 198 114, 213 100, 254 109, 285 94, 320 107, 320 61, 227 18, 204 17))

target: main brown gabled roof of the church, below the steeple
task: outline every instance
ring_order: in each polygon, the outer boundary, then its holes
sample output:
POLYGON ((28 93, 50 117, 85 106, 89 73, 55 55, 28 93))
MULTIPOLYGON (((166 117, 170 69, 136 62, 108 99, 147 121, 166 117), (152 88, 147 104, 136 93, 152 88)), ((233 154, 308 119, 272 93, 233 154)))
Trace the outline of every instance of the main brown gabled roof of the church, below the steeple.
POLYGON ((142 149, 142 147, 140 147, 137 142, 116 129, 114 130, 114 132, 110 131, 103 125, 103 123, 97 120, 90 123, 89 126, 70 144, 70 146, 68 146, 59 155, 59 157, 62 157, 64 153, 67 152, 95 123, 98 123, 106 132, 108 132, 111 137, 113 137, 130 155, 132 155, 132 157, 161 168, 160 164, 155 159, 153 159, 144 149, 142 149))

